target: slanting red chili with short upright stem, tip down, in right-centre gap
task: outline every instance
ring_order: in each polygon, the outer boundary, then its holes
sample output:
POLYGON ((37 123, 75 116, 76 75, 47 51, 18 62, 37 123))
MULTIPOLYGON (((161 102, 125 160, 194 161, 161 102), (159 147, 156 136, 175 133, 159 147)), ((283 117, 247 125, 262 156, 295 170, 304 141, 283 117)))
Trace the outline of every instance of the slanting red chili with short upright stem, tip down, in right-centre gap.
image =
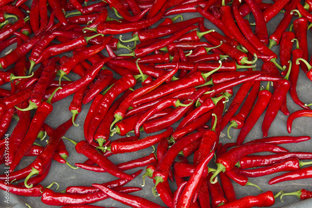
POLYGON ((260 118, 263 111, 266 109, 267 105, 270 102, 272 97, 271 92, 269 91, 269 83, 267 85, 267 89, 262 89, 258 93, 258 99, 255 103, 255 106, 251 110, 249 116, 245 120, 245 123, 237 137, 236 145, 241 145, 247 134, 250 132, 251 128, 255 125, 257 120, 260 118))

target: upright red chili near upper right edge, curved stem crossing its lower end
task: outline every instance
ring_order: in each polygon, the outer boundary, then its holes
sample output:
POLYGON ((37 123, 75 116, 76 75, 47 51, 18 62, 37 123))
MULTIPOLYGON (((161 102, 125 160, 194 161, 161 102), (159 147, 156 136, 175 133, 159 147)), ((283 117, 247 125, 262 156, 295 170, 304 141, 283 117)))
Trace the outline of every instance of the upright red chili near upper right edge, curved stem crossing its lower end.
MULTIPOLYGON (((308 43, 307 43, 308 20, 305 17, 295 19, 294 31, 296 39, 299 41, 299 48, 303 51, 302 58, 308 61, 308 43)), ((301 69, 307 73, 309 71, 307 65, 301 61, 301 69)))

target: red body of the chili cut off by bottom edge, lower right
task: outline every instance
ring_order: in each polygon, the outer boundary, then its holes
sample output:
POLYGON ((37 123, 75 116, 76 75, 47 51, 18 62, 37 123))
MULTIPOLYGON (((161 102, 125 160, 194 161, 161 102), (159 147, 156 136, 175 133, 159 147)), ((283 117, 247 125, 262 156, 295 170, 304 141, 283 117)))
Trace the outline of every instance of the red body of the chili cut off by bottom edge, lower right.
POLYGON ((272 191, 266 191, 265 193, 257 196, 244 196, 236 201, 229 202, 225 205, 219 206, 220 208, 251 208, 253 206, 272 206, 275 203, 274 195, 272 191))

